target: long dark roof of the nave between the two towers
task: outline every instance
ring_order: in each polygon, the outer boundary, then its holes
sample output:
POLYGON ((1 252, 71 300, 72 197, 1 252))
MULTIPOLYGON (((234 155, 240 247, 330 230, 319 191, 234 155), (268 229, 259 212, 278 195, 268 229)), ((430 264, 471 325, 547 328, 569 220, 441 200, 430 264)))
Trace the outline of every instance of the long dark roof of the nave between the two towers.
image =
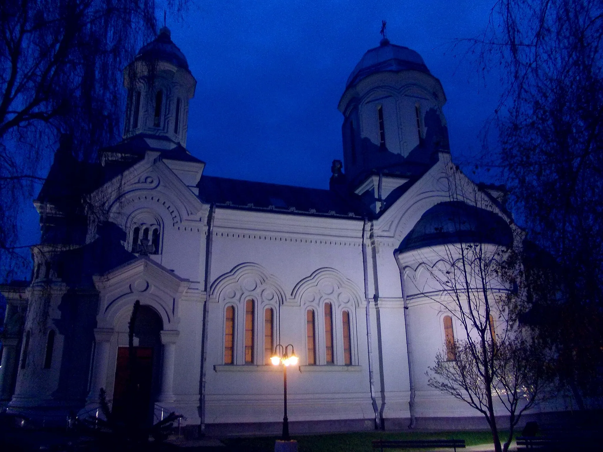
POLYGON ((198 184, 199 198, 221 207, 245 210, 271 210, 301 215, 326 215, 362 218, 370 215, 359 198, 323 190, 268 184, 223 177, 203 176, 198 184))

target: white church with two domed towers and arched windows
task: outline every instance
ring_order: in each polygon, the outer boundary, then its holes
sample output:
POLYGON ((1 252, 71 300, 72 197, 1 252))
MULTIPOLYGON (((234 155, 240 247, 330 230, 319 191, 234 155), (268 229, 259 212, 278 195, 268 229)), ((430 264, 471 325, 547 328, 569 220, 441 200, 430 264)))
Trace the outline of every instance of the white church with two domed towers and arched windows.
POLYGON ((417 52, 383 39, 353 69, 328 190, 203 174, 186 149, 196 81, 167 28, 124 84, 123 140, 95 163, 62 141, 34 201, 32 280, 0 287, 2 407, 64 422, 95 409, 101 388, 119 404, 139 301, 149 412, 175 410, 206 433, 279 432, 277 344, 299 357, 292 433, 484 422, 428 385, 461 331, 417 280, 428 278, 425 250, 455 240, 447 212, 481 215, 500 245, 510 218, 493 187, 472 185, 479 207, 451 200, 446 174, 464 176, 451 163, 446 95, 417 52))

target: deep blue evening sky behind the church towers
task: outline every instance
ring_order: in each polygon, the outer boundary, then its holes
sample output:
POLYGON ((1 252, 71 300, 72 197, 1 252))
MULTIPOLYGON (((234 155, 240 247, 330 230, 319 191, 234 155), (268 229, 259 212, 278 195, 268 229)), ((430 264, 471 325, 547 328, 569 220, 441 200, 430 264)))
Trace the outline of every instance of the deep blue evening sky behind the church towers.
POLYGON ((168 14, 197 79, 187 147, 208 175, 327 188, 332 160, 343 159, 339 98, 385 19, 391 42, 419 52, 443 84, 453 159, 467 167, 499 89, 452 42, 478 36, 491 6, 226 0, 192 5, 179 22, 168 14))

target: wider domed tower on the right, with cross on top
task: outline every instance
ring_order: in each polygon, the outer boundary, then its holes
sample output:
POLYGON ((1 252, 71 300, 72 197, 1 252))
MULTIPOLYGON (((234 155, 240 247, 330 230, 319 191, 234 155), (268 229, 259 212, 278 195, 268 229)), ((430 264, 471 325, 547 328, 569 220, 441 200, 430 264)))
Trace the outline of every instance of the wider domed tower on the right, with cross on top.
POLYGON ((445 103, 440 80, 417 52, 386 37, 368 50, 338 105, 349 188, 358 193, 371 176, 412 177, 431 165, 435 151, 448 149, 445 103))

